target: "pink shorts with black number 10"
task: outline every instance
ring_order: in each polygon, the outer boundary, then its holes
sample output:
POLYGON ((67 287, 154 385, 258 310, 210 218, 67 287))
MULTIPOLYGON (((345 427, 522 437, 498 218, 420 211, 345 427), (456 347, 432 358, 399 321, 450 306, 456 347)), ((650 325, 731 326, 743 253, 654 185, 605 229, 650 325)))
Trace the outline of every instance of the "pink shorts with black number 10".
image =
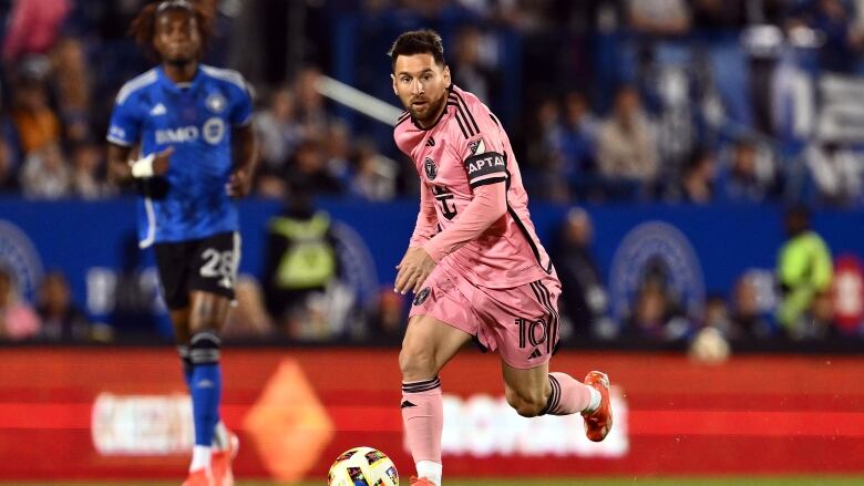
POLYGON ((558 296, 555 276, 512 289, 477 287, 460 275, 435 267, 414 296, 410 317, 429 316, 497 350, 513 368, 547 363, 558 343, 558 296))

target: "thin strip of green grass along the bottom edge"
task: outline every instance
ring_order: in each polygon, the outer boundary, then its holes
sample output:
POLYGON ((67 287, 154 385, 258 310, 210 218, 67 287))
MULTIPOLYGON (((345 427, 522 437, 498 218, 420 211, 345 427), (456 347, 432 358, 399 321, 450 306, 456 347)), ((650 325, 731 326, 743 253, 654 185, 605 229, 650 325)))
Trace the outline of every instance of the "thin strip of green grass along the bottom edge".
MULTIPOLYGON (((0 485, 12 483, 0 483, 0 485)), ((63 483, 16 483, 21 486, 176 486, 179 482, 63 482, 63 483)), ((325 482, 299 483, 292 486, 322 486, 325 482)), ((533 479, 533 480, 448 480, 446 486, 731 486, 731 485, 759 485, 759 486, 852 486, 864 484, 864 477, 833 477, 833 476, 790 476, 790 477, 763 477, 763 476, 732 476, 724 478, 704 477, 619 477, 619 478, 587 478, 587 479, 533 479)), ((278 486, 278 483, 267 482, 239 482, 237 486, 278 486)), ((402 482, 408 486, 408 482, 402 482)))

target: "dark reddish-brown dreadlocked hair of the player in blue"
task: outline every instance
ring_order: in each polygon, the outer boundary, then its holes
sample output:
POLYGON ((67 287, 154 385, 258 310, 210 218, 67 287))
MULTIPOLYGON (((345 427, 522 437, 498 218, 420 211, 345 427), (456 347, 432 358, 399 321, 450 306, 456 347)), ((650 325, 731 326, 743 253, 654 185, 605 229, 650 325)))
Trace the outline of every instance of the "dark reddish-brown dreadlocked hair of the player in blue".
POLYGON ((195 15, 202 42, 198 58, 202 58, 209 40, 213 38, 213 14, 197 0, 161 0, 147 3, 141 9, 138 17, 132 21, 132 25, 128 29, 130 37, 135 39, 135 42, 144 49, 147 56, 160 61, 160 53, 153 46, 153 38, 156 35, 156 20, 160 15, 169 11, 185 11, 191 15, 195 15))

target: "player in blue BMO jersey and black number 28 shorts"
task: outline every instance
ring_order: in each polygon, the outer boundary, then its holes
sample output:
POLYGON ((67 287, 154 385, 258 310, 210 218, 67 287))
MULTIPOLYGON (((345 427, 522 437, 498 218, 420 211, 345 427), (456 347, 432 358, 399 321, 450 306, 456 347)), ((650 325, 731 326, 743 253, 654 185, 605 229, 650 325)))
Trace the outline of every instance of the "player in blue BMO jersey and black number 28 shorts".
POLYGON ((237 208, 256 165, 240 74, 200 62, 212 18, 189 0, 150 3, 130 32, 160 65, 117 93, 112 176, 133 180, 142 248, 153 247, 192 395, 195 447, 184 486, 230 486, 237 437, 219 420, 219 329, 239 263, 237 208))

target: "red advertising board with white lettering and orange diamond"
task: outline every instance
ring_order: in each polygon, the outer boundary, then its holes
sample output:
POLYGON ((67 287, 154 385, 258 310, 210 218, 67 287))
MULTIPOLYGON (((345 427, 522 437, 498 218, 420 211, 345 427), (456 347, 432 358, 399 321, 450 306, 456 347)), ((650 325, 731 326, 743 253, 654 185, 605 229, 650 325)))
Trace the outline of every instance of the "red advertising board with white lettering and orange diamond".
MULTIPOLYGON (((448 475, 864 472, 864 359, 559 353, 553 369, 609 373, 616 426, 588 443, 578 416, 526 420, 503 401, 494 356, 442 374, 448 475), (590 459, 590 461, 589 461, 590 459)), ((0 351, 0 478, 177 477, 192 442, 169 349, 0 351)), ((326 477, 369 445, 405 474, 395 350, 228 349, 223 418, 239 477, 326 477)))

